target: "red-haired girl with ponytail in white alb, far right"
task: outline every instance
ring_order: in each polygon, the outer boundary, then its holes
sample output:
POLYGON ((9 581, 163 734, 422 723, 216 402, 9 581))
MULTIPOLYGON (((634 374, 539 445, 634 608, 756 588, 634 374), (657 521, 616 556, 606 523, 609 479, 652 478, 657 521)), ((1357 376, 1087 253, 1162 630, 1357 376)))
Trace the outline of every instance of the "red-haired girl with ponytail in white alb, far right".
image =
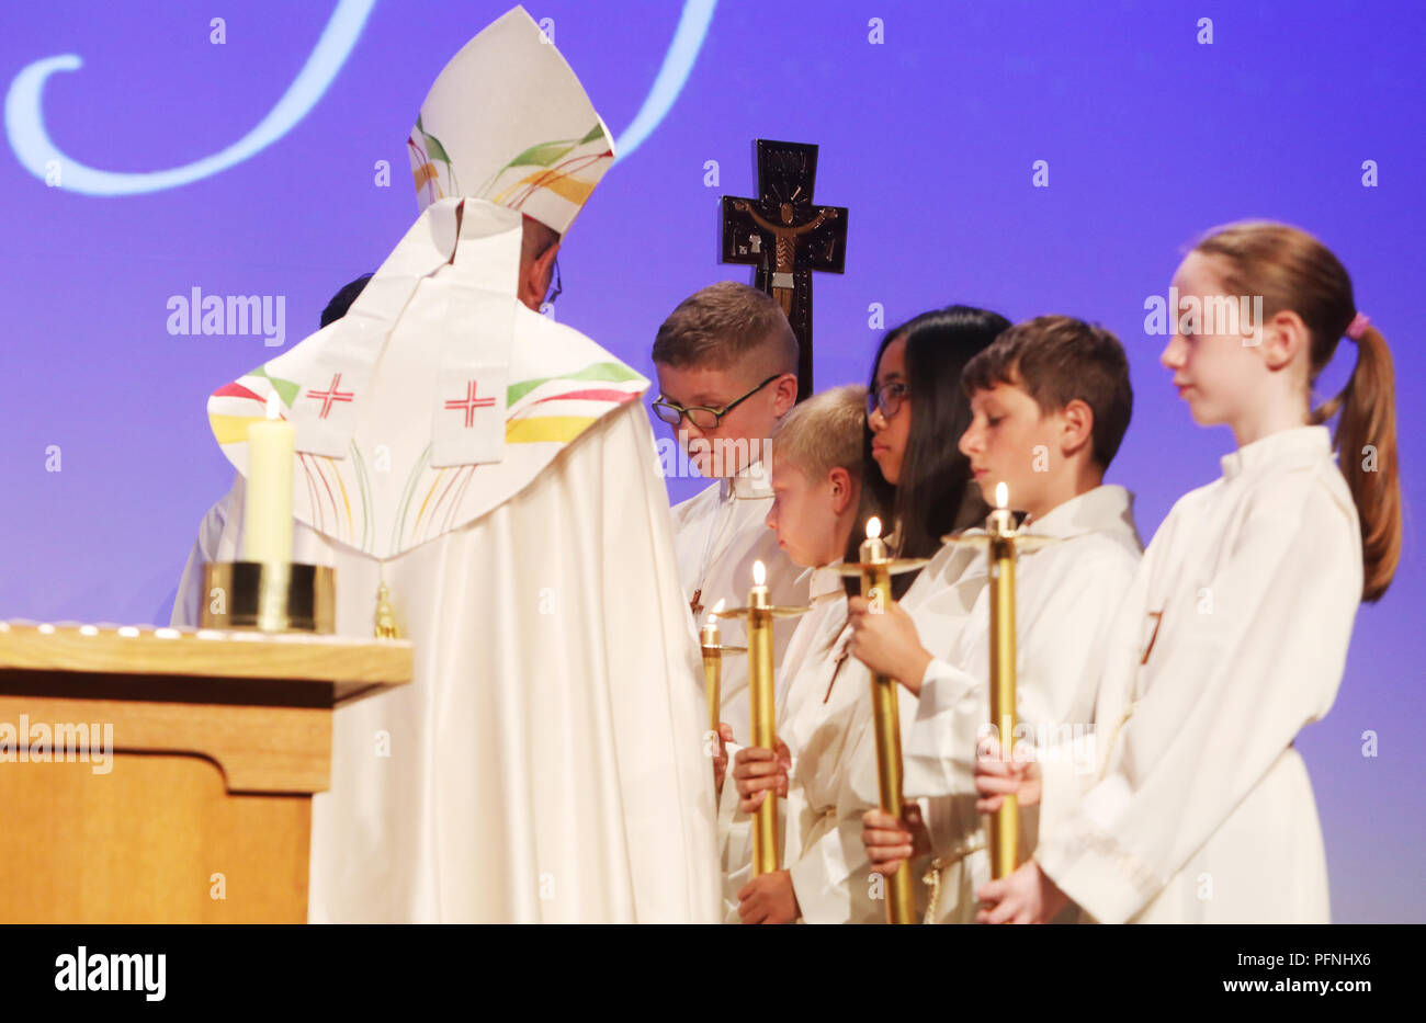
POLYGON ((1194 420, 1231 427, 1238 447, 1174 506, 1125 596, 1095 771, 1048 751, 981 761, 981 811, 1007 792, 1040 806, 1034 858, 978 892, 984 922, 1047 920, 1070 902, 1091 922, 1329 919, 1292 742, 1330 710, 1358 604, 1386 593, 1400 557, 1392 359, 1342 264, 1296 228, 1212 231, 1174 285, 1189 308, 1172 312, 1161 360, 1194 420), (1204 322, 1259 301, 1261 322, 1204 322), (1342 338, 1352 376, 1313 407, 1342 338))

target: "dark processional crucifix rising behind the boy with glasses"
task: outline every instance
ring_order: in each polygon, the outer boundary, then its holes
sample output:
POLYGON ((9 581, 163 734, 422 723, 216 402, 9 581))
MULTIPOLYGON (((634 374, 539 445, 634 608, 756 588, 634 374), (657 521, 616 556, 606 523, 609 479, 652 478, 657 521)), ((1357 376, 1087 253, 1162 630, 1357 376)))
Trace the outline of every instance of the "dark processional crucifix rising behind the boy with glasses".
POLYGON ((813 205, 817 147, 757 140, 759 198, 723 197, 723 262, 757 266, 801 349, 797 400, 811 393, 811 272, 841 274, 847 208, 813 205))

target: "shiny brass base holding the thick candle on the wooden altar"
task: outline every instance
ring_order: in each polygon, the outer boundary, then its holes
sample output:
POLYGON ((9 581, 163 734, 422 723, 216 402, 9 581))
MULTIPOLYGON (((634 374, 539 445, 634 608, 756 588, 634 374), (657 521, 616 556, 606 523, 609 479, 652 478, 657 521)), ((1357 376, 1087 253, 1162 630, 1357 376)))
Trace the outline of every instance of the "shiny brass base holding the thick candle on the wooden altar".
POLYGON ((337 631, 337 571, 288 561, 211 561, 202 566, 204 628, 264 633, 337 631))

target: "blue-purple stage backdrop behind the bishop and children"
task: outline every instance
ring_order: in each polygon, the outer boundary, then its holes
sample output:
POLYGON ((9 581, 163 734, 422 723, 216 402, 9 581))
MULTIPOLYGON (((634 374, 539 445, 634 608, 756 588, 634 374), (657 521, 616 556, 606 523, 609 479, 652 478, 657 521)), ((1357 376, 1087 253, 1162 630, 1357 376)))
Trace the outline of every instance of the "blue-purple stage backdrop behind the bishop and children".
MULTIPOLYGON (((6 7, 0 617, 167 621, 231 482, 207 395, 312 332, 392 248, 416 214, 416 108, 508 6, 6 7), (171 299, 195 291, 260 296, 267 319, 174 332, 171 299)), ((1145 301, 1224 221, 1283 219, 1336 251, 1396 353, 1406 559, 1299 749, 1336 919, 1426 919, 1420 6, 535 0, 530 14, 622 148, 562 249, 560 321, 652 376, 682 298, 750 279, 717 262, 717 211, 756 188, 753 138, 819 142, 816 198, 850 208, 846 275, 814 286, 819 386, 864 382, 881 332, 931 306, 1099 321, 1132 363, 1109 477, 1137 492, 1145 540, 1232 446, 1175 399, 1145 301)), ((674 499, 699 486, 669 480, 674 499)))

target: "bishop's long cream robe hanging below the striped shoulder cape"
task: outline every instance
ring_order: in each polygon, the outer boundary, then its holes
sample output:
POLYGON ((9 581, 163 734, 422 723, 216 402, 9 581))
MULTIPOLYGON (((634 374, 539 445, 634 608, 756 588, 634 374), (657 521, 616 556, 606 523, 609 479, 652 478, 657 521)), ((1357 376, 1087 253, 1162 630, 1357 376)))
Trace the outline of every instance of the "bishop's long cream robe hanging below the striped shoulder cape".
MULTIPOLYGON (((523 306, 515 325, 515 380, 552 350, 613 365, 523 306)), ((197 624, 201 564, 241 556, 242 484, 201 526, 175 624, 197 624)), ((337 631, 372 635, 381 561, 294 527, 294 560, 337 568, 337 631)), ((335 714, 311 919, 714 922, 702 671, 639 402, 384 577, 415 675, 335 714)))

